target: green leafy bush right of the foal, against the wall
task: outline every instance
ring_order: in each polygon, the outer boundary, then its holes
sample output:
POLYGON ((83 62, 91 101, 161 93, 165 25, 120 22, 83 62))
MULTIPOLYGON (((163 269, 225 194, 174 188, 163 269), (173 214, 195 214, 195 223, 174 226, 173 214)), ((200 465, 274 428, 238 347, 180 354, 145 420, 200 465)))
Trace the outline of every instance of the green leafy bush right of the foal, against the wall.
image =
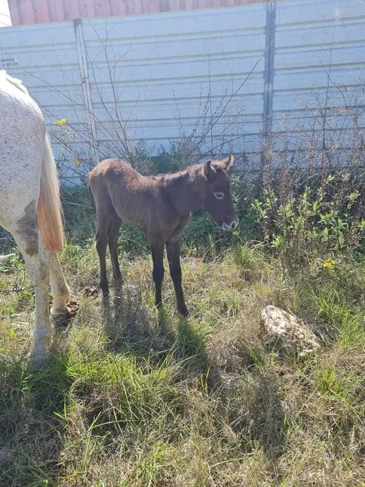
POLYGON ((284 266, 360 247, 365 232, 362 172, 322 172, 301 181, 287 177, 285 191, 272 181, 252 201, 262 237, 284 266))

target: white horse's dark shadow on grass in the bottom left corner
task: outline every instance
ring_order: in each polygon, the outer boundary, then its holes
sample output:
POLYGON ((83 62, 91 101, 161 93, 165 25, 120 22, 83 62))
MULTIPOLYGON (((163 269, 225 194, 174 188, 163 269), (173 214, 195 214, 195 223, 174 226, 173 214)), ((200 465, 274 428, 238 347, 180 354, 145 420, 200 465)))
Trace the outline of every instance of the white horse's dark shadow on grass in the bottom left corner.
POLYGON ((0 484, 46 485, 61 471, 60 418, 70 382, 67 357, 38 372, 26 359, 0 361, 0 484))

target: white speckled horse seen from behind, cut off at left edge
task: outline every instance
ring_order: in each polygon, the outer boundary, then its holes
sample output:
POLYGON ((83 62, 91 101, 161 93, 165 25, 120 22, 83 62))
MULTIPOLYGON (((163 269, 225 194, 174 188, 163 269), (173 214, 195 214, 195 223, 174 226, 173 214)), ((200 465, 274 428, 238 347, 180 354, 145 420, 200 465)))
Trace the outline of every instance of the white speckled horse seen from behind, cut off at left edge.
POLYGON ((64 233, 55 161, 39 106, 20 80, 0 70, 0 225, 23 254, 35 291, 34 341, 30 365, 48 362, 52 316, 67 316, 69 287, 56 251, 64 233))

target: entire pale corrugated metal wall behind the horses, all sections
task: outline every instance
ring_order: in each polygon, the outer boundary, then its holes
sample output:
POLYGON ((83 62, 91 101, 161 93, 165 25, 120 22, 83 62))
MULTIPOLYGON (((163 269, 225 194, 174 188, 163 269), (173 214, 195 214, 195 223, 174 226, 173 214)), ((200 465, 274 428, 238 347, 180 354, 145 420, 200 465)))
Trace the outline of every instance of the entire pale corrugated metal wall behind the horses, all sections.
MULTIPOLYGON (((161 145, 168 149, 181 134, 199 138, 223 107, 224 114, 206 133, 203 152, 257 152, 268 89, 266 10, 261 3, 83 20, 101 156, 120 153, 120 122, 129 140, 143 139, 156 151, 161 145)), ((89 129, 74 24, 2 29, 0 58, 10 59, 9 72, 40 102, 49 128, 63 130, 52 124, 66 118, 75 129, 66 135, 69 147, 75 155, 86 153, 89 129)), ((277 147, 287 143, 288 130, 292 148, 302 143, 303 125, 312 124, 318 103, 331 105, 326 124, 337 129, 344 105, 338 85, 357 90, 363 103, 364 68, 363 3, 278 2, 272 99, 277 147)), ((362 127, 363 122, 360 117, 362 127)), ((57 154, 61 147, 55 145, 57 154)))

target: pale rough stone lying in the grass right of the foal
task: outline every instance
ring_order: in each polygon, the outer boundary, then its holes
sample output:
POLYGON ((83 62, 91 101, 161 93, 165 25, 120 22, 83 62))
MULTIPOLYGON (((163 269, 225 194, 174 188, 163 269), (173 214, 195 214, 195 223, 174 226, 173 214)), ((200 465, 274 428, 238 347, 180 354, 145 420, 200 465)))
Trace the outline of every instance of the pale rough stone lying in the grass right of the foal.
POLYGON ((299 352, 304 357, 320 348, 317 337, 303 320, 283 309, 266 306, 261 311, 261 319, 269 338, 288 354, 299 352))

